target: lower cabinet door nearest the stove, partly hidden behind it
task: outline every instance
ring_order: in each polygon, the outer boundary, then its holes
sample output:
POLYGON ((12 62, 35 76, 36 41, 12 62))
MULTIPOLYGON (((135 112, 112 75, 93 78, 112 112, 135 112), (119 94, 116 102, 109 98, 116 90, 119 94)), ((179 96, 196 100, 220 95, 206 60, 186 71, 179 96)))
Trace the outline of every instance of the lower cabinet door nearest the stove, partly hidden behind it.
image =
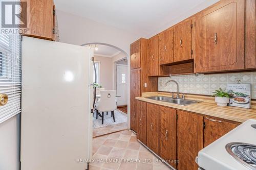
POLYGON ((232 129, 238 127, 237 124, 232 124, 229 122, 224 122, 223 120, 209 117, 204 118, 204 124, 204 147, 219 139, 232 129))

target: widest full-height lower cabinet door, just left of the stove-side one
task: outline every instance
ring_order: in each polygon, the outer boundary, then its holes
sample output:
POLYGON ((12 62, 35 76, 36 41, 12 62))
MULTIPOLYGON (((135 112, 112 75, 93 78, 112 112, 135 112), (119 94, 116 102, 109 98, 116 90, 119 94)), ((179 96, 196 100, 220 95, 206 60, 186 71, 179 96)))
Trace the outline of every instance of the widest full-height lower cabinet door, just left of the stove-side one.
POLYGON ((195 159, 203 149, 203 116, 178 111, 178 169, 197 170, 195 159))

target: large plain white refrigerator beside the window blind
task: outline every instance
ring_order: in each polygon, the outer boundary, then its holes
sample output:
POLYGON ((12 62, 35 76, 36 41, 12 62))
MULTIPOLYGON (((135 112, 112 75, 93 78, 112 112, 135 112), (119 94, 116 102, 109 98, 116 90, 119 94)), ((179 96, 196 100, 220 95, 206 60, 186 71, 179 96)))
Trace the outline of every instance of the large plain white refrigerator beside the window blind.
POLYGON ((90 50, 23 36, 21 170, 84 170, 90 158, 90 50))

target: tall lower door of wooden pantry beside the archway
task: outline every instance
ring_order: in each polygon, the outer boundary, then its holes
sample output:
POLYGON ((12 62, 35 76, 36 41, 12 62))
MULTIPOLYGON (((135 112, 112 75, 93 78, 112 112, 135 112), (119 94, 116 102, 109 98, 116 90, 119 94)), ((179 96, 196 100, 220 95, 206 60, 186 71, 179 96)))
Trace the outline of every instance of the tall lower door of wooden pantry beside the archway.
POLYGON ((136 120, 136 97, 140 96, 140 70, 131 70, 131 114, 130 114, 130 127, 136 132, 137 130, 137 120, 136 120))

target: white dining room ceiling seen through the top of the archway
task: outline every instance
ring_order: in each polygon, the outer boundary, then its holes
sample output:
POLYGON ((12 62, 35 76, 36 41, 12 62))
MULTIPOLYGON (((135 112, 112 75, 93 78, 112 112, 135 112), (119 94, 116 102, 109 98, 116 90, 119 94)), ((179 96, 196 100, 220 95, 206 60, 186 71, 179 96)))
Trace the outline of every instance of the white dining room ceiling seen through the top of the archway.
POLYGON ((101 56, 101 57, 113 57, 119 53, 121 53, 116 48, 106 45, 97 45, 98 50, 94 48, 94 55, 101 56))

